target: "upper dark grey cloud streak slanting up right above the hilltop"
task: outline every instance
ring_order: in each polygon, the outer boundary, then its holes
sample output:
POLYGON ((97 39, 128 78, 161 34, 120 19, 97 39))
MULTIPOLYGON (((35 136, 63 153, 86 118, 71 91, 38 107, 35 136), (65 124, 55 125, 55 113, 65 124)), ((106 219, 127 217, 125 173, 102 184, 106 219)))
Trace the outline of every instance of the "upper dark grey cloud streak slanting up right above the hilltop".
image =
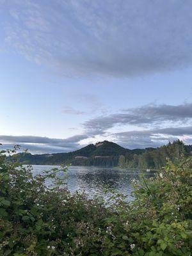
POLYGON ((90 134, 104 134, 115 125, 162 125, 166 122, 191 122, 191 118, 192 103, 178 106, 150 104, 93 118, 84 123, 84 128, 90 134))

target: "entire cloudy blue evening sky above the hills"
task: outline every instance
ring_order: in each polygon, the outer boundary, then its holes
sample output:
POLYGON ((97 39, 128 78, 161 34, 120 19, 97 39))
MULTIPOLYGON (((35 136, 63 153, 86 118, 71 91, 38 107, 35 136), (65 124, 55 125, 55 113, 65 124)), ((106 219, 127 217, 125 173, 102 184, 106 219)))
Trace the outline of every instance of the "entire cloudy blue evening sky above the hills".
POLYGON ((0 0, 0 143, 192 144, 192 1, 0 0))

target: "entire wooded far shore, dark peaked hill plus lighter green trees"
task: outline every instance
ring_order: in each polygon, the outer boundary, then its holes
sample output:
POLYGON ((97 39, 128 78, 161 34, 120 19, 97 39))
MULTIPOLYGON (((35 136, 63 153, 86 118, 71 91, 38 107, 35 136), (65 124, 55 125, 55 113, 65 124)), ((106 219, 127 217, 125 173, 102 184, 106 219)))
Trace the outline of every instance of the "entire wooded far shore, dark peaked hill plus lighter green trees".
POLYGON ((182 156, 191 156, 192 146, 174 141, 159 148, 127 149, 110 141, 90 144, 79 150, 32 155, 15 154, 20 163, 26 164, 72 164, 79 166, 120 166, 122 168, 154 168, 165 166, 168 159, 175 162, 182 156))

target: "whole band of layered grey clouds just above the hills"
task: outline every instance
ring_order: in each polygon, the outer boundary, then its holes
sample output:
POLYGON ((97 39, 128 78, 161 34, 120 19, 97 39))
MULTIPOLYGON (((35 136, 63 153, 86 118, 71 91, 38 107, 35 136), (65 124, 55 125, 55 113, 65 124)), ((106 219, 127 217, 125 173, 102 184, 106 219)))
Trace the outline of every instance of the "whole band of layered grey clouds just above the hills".
POLYGON ((22 148, 29 148, 33 153, 68 152, 82 147, 85 141, 91 142, 97 138, 98 140, 113 138, 116 143, 126 148, 159 147, 177 138, 185 143, 192 143, 191 109, 191 103, 178 106, 150 104, 88 120, 84 124, 84 134, 77 134, 67 139, 0 136, 0 142, 4 144, 4 147, 19 144, 22 148), (110 132, 111 127, 116 125, 124 125, 127 131, 110 132), (130 125, 134 125, 136 129, 129 131, 130 125))

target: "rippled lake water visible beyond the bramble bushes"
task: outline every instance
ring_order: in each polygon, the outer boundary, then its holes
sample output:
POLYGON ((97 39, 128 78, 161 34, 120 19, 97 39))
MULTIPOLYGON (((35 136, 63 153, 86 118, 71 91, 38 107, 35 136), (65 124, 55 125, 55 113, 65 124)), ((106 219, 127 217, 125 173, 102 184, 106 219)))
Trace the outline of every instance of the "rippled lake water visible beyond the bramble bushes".
MULTIPOLYGON (((43 170, 50 170, 51 168, 59 168, 60 166, 50 165, 33 165, 33 173, 42 173, 43 170)), ((132 179, 140 180, 141 173, 148 179, 154 176, 153 172, 146 172, 140 170, 128 170, 120 168, 103 168, 95 166, 70 166, 67 173, 65 173, 67 188, 70 192, 85 191, 89 196, 102 195, 108 198, 113 194, 108 191, 104 194, 104 186, 115 190, 117 193, 123 193, 127 196, 127 200, 132 200, 132 179)), ((59 173, 63 175, 63 173, 59 173)), ((50 184, 51 180, 47 180, 50 184)))

